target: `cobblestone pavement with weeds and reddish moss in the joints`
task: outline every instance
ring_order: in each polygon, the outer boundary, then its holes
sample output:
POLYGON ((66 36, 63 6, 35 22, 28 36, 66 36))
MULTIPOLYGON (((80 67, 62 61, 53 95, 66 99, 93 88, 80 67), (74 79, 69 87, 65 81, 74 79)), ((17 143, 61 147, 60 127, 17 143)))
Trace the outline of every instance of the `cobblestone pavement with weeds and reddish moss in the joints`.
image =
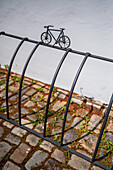
MULTIPOLYGON (((0 114, 6 116, 5 82, 7 71, 0 72, 0 114)), ((10 119, 18 122, 20 77, 11 73, 9 81, 10 119)), ((50 86, 25 77, 22 87, 22 125, 43 133, 44 113, 50 86)), ((54 88, 47 118, 46 135, 60 142, 63 116, 69 92, 54 88)), ((66 120, 63 143, 92 157, 107 105, 73 94, 66 120)), ((113 108, 112 108, 113 109, 113 108)), ((104 131, 96 158, 107 166, 113 164, 113 110, 104 131)), ((32 133, 0 119, 0 169, 101 170, 82 158, 53 145, 32 133)))

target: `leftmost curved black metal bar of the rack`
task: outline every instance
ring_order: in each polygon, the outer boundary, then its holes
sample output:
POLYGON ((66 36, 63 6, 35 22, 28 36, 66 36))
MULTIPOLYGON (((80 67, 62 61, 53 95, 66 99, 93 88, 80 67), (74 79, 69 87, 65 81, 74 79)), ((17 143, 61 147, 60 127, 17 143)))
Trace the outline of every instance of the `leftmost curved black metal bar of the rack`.
POLYGON ((6 109, 7 109, 7 119, 9 119, 9 105, 8 105, 8 86, 9 86, 9 77, 10 77, 10 72, 11 72, 11 68, 14 62, 14 59, 17 55, 17 52, 19 51, 20 47, 22 46, 22 44, 24 43, 24 41, 26 40, 26 38, 23 38, 22 41, 20 41, 20 43, 18 44, 12 58, 11 58, 11 62, 9 64, 9 69, 8 69, 8 74, 7 74, 7 80, 6 80, 6 109))

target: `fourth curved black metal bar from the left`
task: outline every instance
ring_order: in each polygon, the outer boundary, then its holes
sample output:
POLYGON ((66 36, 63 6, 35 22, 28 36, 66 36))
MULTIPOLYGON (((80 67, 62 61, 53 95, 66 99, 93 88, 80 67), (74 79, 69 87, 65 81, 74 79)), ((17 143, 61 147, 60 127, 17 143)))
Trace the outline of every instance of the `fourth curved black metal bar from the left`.
POLYGON ((77 73, 76 73, 76 76, 74 78, 74 81, 73 81, 73 84, 72 84, 72 87, 71 87, 71 90, 70 90, 70 94, 69 94, 69 97, 68 97, 68 101, 67 101, 67 105, 66 105, 66 111, 65 111, 65 114, 64 114, 64 120, 63 120, 63 125, 62 125, 62 134, 61 134, 61 141, 60 141, 60 145, 62 145, 63 143, 63 136, 64 136, 64 129, 65 129, 65 123, 66 123, 66 117, 67 117, 67 113, 68 113, 68 108, 69 108, 69 104, 70 104, 70 100, 71 100, 71 97, 72 97, 72 94, 73 94, 73 90, 75 88, 75 85, 77 83, 77 80, 78 80, 78 77, 81 73, 81 70, 88 58, 88 56, 90 56, 91 54, 90 53, 86 53, 77 73))

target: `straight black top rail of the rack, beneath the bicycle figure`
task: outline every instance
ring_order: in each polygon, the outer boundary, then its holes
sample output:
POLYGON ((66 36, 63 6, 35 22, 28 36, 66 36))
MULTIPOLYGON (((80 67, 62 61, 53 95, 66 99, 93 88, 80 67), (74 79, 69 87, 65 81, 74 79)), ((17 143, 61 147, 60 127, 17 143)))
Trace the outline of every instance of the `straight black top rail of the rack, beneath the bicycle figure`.
MULTIPOLYGON (((12 34, 7 34, 5 32, 2 32, 1 35, 4 35, 4 36, 8 36, 8 37, 12 37, 12 38, 16 38, 16 39, 20 39, 22 40, 23 37, 20 37, 20 36, 15 36, 15 35, 12 35, 12 34)), ((34 44, 37 44, 39 43, 39 41, 35 41, 35 40, 32 40, 32 39, 27 39, 28 42, 31 42, 31 43, 34 43, 34 44)), ((66 51, 66 49, 63 49, 63 48, 60 48, 60 47, 57 47, 57 46, 52 46, 50 44, 44 44, 42 42, 40 42, 40 45, 43 45, 43 46, 46 46, 46 47, 51 47, 51 48, 54 48, 54 49, 58 49, 58 50, 62 50, 62 51, 66 51)), ((84 55, 85 56, 85 52, 81 52, 81 51, 77 51, 77 50, 71 50, 70 51, 71 53, 75 53, 75 54, 80 54, 80 55, 84 55)), ((89 57, 91 58, 95 58, 95 59, 99 59, 99 60, 104 60, 104 61, 108 61, 108 62, 113 62, 113 59, 111 58, 106 58, 106 57, 102 57, 102 56, 98 56, 98 55, 93 55, 91 54, 89 57)))

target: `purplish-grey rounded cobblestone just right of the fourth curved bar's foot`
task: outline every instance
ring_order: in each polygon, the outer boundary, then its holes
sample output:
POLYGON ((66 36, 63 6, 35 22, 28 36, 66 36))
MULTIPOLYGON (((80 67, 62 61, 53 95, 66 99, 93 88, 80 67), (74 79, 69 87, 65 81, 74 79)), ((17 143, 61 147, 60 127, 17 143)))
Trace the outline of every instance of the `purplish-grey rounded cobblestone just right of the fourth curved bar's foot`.
POLYGON ((74 130, 74 129, 71 129, 71 130, 68 130, 65 135, 64 135, 64 139, 63 139, 63 142, 66 144, 66 143, 70 143, 70 142, 73 142, 75 141, 75 139, 77 138, 78 136, 78 133, 74 130))

